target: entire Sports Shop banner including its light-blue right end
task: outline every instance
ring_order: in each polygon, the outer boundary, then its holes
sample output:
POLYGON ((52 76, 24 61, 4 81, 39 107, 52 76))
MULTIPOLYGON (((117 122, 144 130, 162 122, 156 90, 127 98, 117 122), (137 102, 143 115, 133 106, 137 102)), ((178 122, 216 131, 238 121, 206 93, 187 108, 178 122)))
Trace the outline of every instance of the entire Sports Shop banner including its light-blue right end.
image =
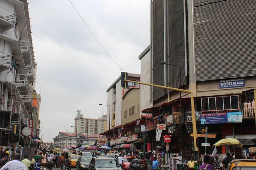
POLYGON ((223 113, 202 113, 200 116, 201 125, 222 124, 222 123, 241 123, 242 112, 223 112, 223 113))

